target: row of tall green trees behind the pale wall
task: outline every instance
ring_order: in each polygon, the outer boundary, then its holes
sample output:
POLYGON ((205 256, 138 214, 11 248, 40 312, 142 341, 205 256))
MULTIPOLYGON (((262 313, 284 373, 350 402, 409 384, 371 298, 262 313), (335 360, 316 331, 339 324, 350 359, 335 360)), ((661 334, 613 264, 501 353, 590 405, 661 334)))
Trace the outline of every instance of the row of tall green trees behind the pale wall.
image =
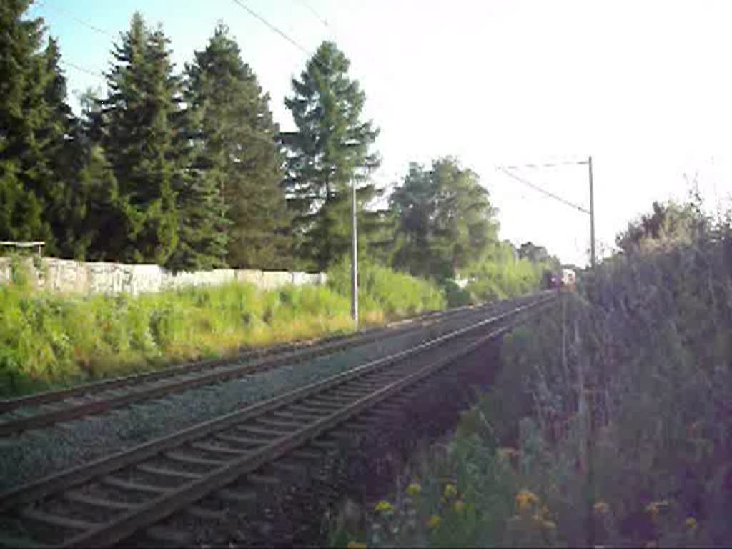
POLYGON ((445 280, 508 245, 488 191, 453 157, 410 165, 376 200, 378 127, 335 43, 292 79, 296 131, 280 132, 225 25, 176 72, 162 27, 135 13, 106 93, 86 91, 76 116, 30 4, 0 6, 0 239, 174 270, 328 269, 350 249, 355 184, 364 258, 445 280))

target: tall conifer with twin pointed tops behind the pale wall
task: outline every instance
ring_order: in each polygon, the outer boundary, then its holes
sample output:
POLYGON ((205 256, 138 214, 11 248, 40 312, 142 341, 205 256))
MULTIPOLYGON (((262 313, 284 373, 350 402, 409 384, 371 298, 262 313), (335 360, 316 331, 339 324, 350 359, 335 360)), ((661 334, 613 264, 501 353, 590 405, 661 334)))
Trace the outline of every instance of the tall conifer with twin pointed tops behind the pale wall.
POLYGON ((184 162, 175 141, 180 80, 168 39, 160 29, 149 31, 139 13, 113 57, 102 145, 119 184, 115 208, 124 223, 110 235, 108 257, 165 264, 178 243, 173 182, 184 162))

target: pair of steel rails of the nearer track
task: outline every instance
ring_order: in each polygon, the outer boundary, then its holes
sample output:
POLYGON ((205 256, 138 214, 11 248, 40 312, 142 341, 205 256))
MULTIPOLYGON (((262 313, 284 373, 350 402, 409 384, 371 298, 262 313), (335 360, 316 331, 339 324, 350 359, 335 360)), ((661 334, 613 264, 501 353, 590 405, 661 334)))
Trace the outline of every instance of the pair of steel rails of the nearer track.
MULTIPOLYGON (((166 450, 182 447, 190 441, 195 441, 195 439, 211 436, 212 433, 221 432, 236 425, 243 424, 247 420, 261 417, 264 414, 277 411, 290 404, 296 404, 300 401, 307 402, 308 397, 320 395, 330 389, 335 389, 337 386, 347 384, 348 381, 367 378, 369 374, 380 372, 386 366, 396 363, 404 365, 406 364, 404 361, 411 356, 416 356, 431 348, 441 346, 444 343, 455 340, 455 338, 474 335, 475 332, 482 328, 492 326, 500 321, 510 320, 523 311, 535 309, 551 301, 553 301, 552 297, 539 296, 538 299, 535 299, 529 304, 520 305, 500 315, 479 321, 462 329, 457 329, 446 335, 441 335, 406 351, 400 351, 399 353, 384 357, 384 359, 369 362, 366 365, 356 367, 353 370, 348 370, 336 376, 331 376, 315 384, 310 384, 283 395, 264 400, 253 406, 247 406, 247 408, 243 408, 233 414, 204 422, 171 436, 141 444, 128 452, 119 452, 116 455, 96 460, 88 465, 72 468, 59 474, 50 475, 36 482, 31 482, 15 490, 6 491, 0 494, 0 512, 8 512, 12 509, 32 504, 34 501, 39 501, 42 498, 64 493, 70 488, 83 485, 96 478, 110 474, 113 471, 119 471, 135 463, 141 463, 149 458, 154 458, 166 450)), ((255 471, 265 463, 276 460, 291 450, 307 444, 308 441, 313 440, 316 436, 359 414, 365 408, 373 406, 374 403, 380 402, 399 392, 406 386, 414 384, 425 376, 429 376, 431 373, 440 370, 450 362, 454 362, 460 358, 460 356, 465 356, 485 343, 486 340, 504 333, 511 329, 512 326, 513 324, 508 324, 507 326, 494 330, 489 335, 479 337, 476 342, 468 343, 464 348, 460 348, 457 353, 453 353, 447 358, 432 362, 427 367, 421 367, 417 372, 406 373, 400 379, 389 381, 385 386, 367 392, 367 395, 363 397, 354 397, 354 399, 344 403, 343 406, 337 406, 326 417, 315 418, 312 422, 308 422, 299 429, 296 429, 294 433, 280 433, 281 436, 278 436, 272 441, 266 441, 264 447, 255 449, 253 452, 240 452, 242 455, 235 455, 234 458, 214 468, 209 474, 198 475, 198 477, 196 475, 190 475, 193 478, 184 482, 179 488, 166 490, 160 496, 143 502, 133 510, 124 512, 122 516, 113 518, 106 523, 90 524, 89 526, 92 526, 90 529, 86 529, 86 531, 70 539, 64 539, 63 545, 72 547, 96 547, 102 544, 109 545, 119 542, 141 528, 160 522, 160 520, 168 517, 173 512, 192 504, 203 496, 212 493, 212 491, 223 488, 223 486, 230 484, 237 477, 241 477, 242 474, 255 471)), ((384 377, 384 379, 388 381, 390 378, 384 377)), ((310 420, 306 419, 306 421, 310 420)), ((248 428, 251 430, 251 427, 248 428)), ((170 453, 168 452, 168 454, 170 453)), ((205 462, 206 460, 202 461, 205 462)), ((216 463, 215 461, 209 461, 216 463)), ((45 516, 48 518, 48 515, 45 516)), ((60 520, 61 523, 64 520, 67 523, 74 522, 67 518, 61 518, 60 520)))

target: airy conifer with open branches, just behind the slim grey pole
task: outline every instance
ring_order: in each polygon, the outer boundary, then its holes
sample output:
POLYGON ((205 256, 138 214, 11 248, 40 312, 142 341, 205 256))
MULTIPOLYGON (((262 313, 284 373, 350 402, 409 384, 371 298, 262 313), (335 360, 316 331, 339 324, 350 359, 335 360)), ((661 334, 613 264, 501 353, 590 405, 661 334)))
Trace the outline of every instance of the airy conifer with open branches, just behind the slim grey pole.
MULTIPOLYGON (((285 99, 298 129, 288 140, 285 192, 299 255, 318 269, 350 248, 351 183, 357 185, 361 209, 377 195, 367 177, 379 164, 370 152, 378 130, 362 121, 366 96, 349 78, 349 65, 333 42, 323 42, 285 99)), ((372 212, 359 214, 362 244, 370 240, 375 220, 372 212)))

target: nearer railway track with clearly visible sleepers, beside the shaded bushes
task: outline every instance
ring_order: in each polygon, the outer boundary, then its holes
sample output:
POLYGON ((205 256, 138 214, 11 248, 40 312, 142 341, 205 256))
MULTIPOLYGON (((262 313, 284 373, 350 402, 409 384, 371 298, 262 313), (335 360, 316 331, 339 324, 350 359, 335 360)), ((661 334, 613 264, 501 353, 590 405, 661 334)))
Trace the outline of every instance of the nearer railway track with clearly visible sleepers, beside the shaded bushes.
POLYGON ((261 490, 280 482, 277 471, 332 447, 326 433, 338 436, 344 422, 347 436, 373 430, 352 420, 399 406, 400 395, 551 301, 539 294, 406 351, 0 493, 0 545, 190 544, 180 516, 217 522, 231 509, 252 512, 261 490))

